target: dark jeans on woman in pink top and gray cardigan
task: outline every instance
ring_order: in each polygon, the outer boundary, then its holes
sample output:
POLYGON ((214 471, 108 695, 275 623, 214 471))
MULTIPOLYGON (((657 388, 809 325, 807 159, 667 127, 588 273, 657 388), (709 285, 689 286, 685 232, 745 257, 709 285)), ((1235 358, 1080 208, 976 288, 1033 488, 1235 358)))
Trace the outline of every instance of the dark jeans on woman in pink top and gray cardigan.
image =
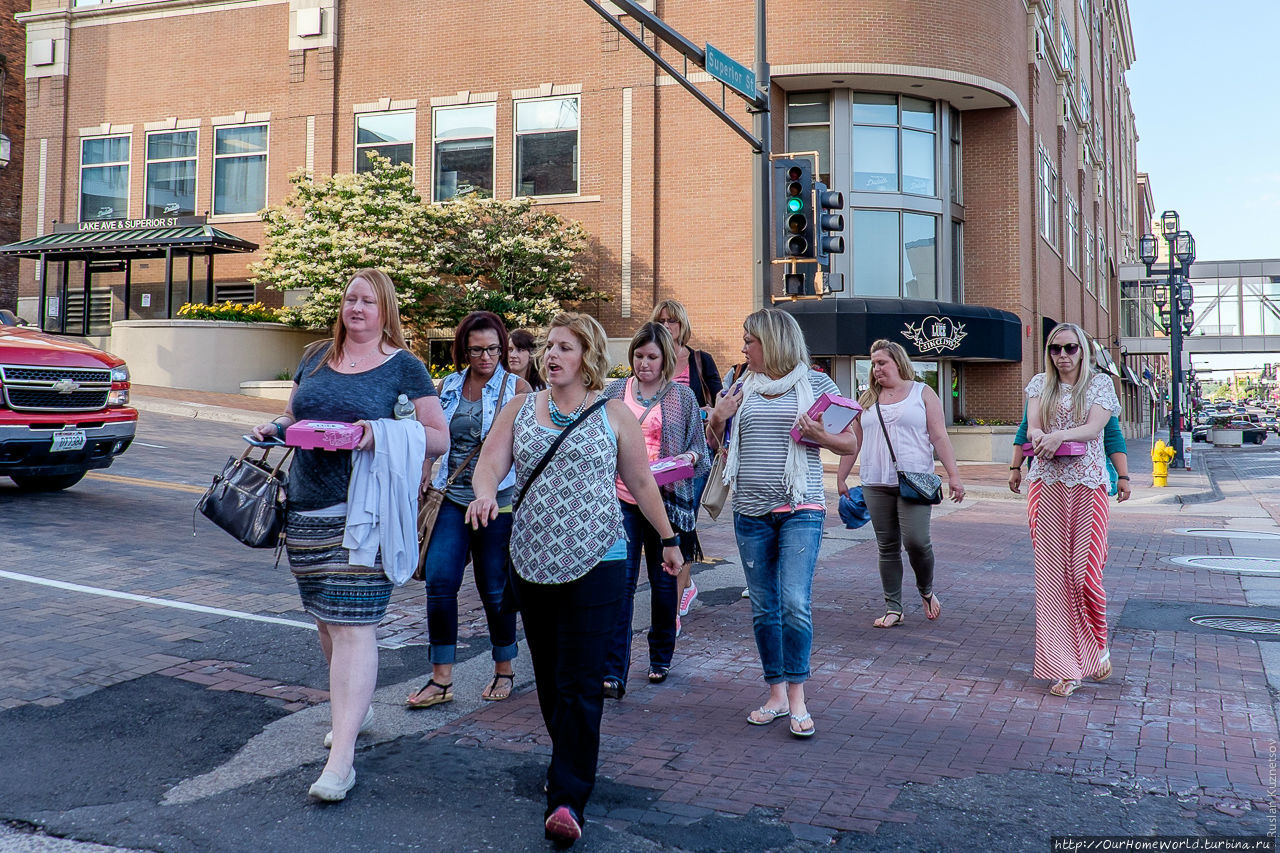
POLYGON ((622 503, 622 529, 627 534, 622 610, 604 657, 604 678, 623 686, 631 674, 631 617, 635 612, 640 552, 649 573, 649 666, 668 669, 676 651, 676 576, 662 570, 662 540, 635 503, 622 503))

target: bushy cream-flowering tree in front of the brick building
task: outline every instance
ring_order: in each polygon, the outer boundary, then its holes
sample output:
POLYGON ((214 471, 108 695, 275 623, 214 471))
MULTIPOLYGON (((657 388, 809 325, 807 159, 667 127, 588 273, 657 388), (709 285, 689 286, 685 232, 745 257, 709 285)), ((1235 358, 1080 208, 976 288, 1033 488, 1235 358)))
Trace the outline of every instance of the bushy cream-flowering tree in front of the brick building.
POLYGON ((543 325, 564 302, 604 298, 582 283, 581 224, 529 199, 428 204, 407 164, 370 159, 372 169, 360 174, 315 181, 297 172, 289 197, 262 211, 266 248, 253 280, 310 291, 287 319, 330 325, 362 266, 392 277, 411 327, 454 325, 475 310, 512 328, 543 325))

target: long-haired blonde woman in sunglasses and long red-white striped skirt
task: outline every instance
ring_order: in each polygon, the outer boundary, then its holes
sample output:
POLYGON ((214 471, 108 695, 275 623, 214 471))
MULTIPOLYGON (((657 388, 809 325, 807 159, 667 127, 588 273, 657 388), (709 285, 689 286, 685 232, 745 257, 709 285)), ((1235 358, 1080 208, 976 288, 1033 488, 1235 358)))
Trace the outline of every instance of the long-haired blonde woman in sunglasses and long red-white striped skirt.
POLYGON ((1044 373, 1027 386, 1027 438, 1036 459, 1028 474, 1027 517, 1036 565, 1036 663, 1050 693, 1071 695, 1088 675, 1111 675, 1106 593, 1107 485, 1102 429, 1120 414, 1111 378, 1084 357, 1088 341, 1074 323, 1053 328, 1044 373), (1083 455, 1060 453, 1084 442, 1083 455))

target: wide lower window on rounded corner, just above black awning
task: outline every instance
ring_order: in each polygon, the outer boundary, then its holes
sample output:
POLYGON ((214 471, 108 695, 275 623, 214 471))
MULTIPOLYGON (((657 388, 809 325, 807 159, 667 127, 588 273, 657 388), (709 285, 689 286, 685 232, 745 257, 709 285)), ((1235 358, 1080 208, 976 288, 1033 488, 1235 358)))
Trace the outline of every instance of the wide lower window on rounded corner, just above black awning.
POLYGON ((938 218, 896 210, 854 211, 854 292, 938 298, 938 218))

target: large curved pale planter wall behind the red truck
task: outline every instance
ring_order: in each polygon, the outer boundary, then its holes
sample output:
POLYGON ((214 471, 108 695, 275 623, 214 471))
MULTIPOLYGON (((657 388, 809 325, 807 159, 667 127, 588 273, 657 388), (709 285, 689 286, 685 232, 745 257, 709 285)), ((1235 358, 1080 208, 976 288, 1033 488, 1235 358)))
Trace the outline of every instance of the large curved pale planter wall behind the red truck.
POLYGON ((242 382, 297 370, 302 350, 324 337, 282 323, 116 320, 109 350, 138 384, 238 394, 242 382))

